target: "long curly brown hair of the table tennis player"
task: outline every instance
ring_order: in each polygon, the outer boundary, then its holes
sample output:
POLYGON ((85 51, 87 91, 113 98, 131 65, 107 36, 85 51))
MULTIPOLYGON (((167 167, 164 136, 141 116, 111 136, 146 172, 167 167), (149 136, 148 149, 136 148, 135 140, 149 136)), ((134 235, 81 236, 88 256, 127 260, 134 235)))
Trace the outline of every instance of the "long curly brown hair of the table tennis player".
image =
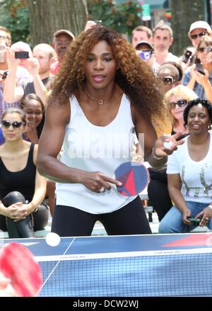
POLYGON ((151 118, 163 118, 160 82, 151 68, 143 62, 121 34, 105 27, 95 26, 73 40, 59 73, 50 86, 49 103, 58 96, 72 96, 85 86, 84 62, 93 46, 105 40, 112 48, 117 62, 115 81, 128 96, 129 101, 151 118))

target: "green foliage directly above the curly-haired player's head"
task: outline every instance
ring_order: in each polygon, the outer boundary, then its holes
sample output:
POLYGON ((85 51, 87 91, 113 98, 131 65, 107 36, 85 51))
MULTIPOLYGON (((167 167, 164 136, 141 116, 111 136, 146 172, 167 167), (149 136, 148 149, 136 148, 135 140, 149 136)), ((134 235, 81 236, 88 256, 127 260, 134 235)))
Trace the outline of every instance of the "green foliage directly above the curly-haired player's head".
POLYGON ((102 25, 131 35, 136 26, 141 25, 141 6, 135 1, 114 4, 112 0, 88 0, 90 20, 101 20, 102 25))

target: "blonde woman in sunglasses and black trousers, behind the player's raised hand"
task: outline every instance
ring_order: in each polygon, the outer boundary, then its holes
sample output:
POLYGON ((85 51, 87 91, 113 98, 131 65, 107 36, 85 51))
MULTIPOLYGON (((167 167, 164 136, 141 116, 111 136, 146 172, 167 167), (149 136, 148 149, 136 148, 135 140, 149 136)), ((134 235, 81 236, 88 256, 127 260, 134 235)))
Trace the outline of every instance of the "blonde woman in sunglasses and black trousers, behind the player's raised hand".
MULTIPOLYGON (((179 140, 186 137, 189 132, 184 128, 183 113, 187 103, 197 95, 186 86, 178 85, 165 94, 165 106, 172 123, 171 135, 181 132, 179 140)), ((172 201, 167 189, 166 167, 155 171, 149 169, 151 181, 148 183, 148 198, 154 210, 158 213, 159 221, 163 219, 168 210, 172 207, 172 201)))

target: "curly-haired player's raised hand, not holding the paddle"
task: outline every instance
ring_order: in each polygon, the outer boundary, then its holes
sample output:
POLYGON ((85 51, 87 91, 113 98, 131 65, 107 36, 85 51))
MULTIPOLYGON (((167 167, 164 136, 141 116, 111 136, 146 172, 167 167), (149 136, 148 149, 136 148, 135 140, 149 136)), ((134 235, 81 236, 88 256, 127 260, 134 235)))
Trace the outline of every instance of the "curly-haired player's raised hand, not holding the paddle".
POLYGON ((154 153, 158 157, 165 157, 177 150, 177 146, 182 145, 184 140, 177 139, 182 135, 182 132, 177 132, 175 135, 162 135, 155 141, 154 153))

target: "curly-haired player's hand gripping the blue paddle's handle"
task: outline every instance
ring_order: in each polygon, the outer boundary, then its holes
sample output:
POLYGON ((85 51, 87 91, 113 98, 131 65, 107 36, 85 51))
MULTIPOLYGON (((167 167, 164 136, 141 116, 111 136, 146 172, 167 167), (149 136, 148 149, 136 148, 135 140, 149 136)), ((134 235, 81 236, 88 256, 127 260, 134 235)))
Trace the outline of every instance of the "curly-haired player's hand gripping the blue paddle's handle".
POLYGON ((83 186, 88 188, 90 191, 96 193, 104 192, 102 191, 102 188, 104 188, 105 190, 110 190, 110 183, 113 183, 116 186, 122 186, 122 183, 120 181, 108 177, 101 171, 84 171, 83 176, 81 176, 80 183, 82 183, 83 186))

